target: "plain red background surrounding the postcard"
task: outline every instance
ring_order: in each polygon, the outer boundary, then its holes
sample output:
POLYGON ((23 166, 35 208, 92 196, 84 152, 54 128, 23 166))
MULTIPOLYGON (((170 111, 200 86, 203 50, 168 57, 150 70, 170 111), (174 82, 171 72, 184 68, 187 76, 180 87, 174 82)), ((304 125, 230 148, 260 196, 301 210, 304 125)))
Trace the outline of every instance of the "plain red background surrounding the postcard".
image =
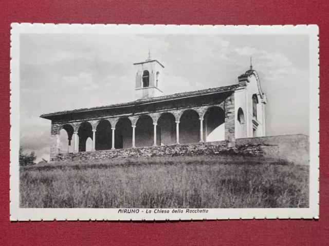
POLYGON ((329 2, 0 0, 0 245, 329 244, 329 2), (9 221, 10 23, 298 25, 320 28, 320 219, 189 222, 9 221))

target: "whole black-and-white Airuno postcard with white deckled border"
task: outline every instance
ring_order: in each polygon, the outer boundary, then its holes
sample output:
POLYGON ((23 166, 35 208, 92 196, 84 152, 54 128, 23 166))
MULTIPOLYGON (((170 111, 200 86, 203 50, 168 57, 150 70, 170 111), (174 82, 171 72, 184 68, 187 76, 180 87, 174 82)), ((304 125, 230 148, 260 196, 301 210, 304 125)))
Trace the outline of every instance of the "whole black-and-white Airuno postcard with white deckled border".
POLYGON ((12 26, 11 218, 317 217, 317 35, 12 26))

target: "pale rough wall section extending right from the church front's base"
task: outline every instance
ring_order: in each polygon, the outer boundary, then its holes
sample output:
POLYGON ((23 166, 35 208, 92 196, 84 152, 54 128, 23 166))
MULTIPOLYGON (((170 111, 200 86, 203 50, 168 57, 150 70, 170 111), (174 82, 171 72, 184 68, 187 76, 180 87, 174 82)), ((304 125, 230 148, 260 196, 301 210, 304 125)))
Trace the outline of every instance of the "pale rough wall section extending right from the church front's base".
POLYGON ((298 165, 309 165, 309 137, 303 134, 240 138, 237 146, 263 146, 265 156, 298 165))

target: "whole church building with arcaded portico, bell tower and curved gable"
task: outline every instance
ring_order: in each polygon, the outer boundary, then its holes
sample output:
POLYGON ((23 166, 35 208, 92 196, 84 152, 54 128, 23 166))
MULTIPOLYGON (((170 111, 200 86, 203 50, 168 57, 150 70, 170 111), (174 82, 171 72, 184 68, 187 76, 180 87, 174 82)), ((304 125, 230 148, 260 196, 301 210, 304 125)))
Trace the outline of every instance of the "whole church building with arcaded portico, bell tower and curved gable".
POLYGON ((237 138, 265 136, 267 100, 252 66, 235 85, 172 95, 163 95, 159 61, 149 56, 134 66, 135 101, 40 116, 51 120, 50 160, 86 151, 196 142, 234 146, 237 138))

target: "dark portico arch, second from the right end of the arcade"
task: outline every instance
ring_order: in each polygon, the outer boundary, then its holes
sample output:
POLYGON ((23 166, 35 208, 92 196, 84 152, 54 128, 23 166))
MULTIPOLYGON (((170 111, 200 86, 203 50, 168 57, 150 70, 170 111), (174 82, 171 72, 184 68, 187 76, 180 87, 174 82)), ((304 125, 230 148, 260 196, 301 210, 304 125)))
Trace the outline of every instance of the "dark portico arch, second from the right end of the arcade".
POLYGON ((189 109, 182 113, 179 118, 179 142, 189 144, 200 140, 199 114, 189 109))

